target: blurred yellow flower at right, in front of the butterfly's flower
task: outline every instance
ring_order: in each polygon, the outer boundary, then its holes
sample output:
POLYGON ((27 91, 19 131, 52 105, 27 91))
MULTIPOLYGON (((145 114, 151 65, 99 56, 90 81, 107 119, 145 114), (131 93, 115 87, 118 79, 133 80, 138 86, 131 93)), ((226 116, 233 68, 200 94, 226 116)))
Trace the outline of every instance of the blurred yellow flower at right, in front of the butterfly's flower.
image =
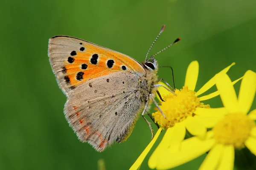
POLYGON ((178 152, 162 152, 157 169, 176 167, 210 150, 199 170, 233 170, 235 149, 247 147, 256 155, 256 109, 247 115, 256 92, 256 73, 244 74, 238 98, 227 74, 218 74, 215 78, 224 108, 200 108, 195 114, 208 119, 220 117, 220 121, 207 132, 204 140, 194 136, 184 140, 178 152))

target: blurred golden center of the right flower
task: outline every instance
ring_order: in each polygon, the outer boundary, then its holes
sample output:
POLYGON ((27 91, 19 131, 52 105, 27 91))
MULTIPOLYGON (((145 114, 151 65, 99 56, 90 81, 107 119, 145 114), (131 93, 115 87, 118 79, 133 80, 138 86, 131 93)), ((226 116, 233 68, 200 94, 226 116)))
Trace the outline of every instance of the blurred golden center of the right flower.
POLYGON ((254 126, 255 122, 245 114, 228 114, 213 128, 214 138, 217 143, 241 148, 254 126))

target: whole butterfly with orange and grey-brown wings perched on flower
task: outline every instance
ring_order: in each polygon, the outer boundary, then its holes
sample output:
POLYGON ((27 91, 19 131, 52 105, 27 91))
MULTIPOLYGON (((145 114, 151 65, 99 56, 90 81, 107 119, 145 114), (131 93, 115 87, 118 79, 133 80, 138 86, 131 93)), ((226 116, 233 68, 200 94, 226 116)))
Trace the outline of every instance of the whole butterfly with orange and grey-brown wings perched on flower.
MULTIPOLYGON (((115 141, 124 142, 140 113, 145 119, 151 102, 158 107, 154 97, 156 93, 160 95, 157 88, 162 85, 158 84, 154 56, 140 63, 125 54, 69 36, 50 38, 48 56, 58 85, 67 96, 67 122, 82 142, 99 152, 115 141)), ((153 137, 150 122, 145 121, 153 137)))

